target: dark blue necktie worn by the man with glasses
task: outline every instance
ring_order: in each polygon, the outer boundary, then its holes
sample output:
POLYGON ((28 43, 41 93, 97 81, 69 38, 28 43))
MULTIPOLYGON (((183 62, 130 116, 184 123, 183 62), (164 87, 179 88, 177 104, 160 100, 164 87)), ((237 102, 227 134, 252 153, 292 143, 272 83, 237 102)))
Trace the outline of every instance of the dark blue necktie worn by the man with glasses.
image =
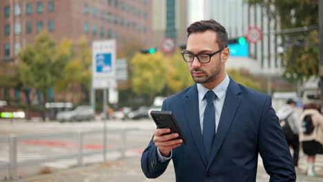
POLYGON ((203 141, 208 157, 211 154, 211 149, 215 138, 215 107, 213 104, 215 97, 216 95, 212 90, 208 90, 208 92, 205 94, 205 98, 208 103, 204 110, 203 141))

